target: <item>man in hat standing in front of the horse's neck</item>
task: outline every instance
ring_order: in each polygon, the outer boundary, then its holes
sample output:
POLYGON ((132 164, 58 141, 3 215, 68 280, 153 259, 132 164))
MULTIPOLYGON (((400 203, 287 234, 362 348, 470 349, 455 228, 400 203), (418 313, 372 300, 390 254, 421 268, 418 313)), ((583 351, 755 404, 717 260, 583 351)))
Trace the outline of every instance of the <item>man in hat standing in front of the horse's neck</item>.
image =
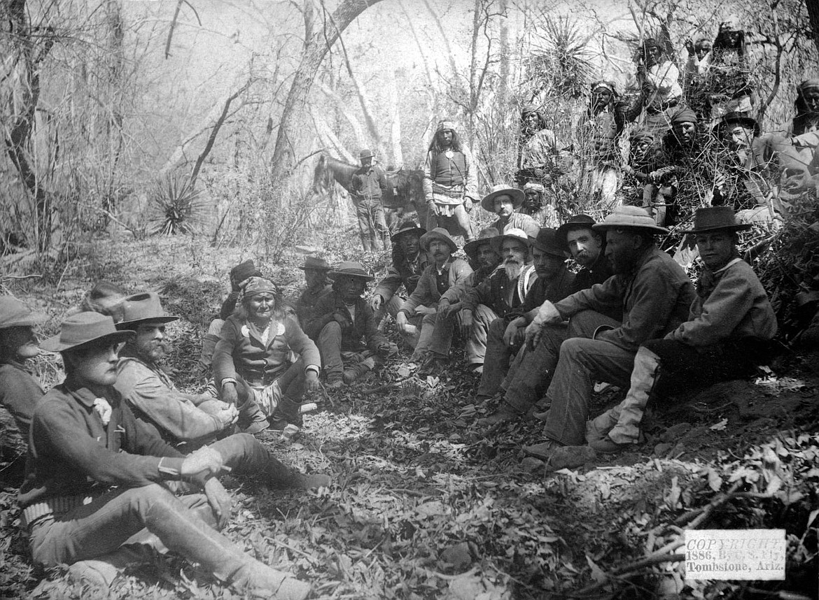
POLYGON ((350 178, 350 195, 358 216, 361 245, 364 252, 381 250, 389 243, 390 230, 384 218, 381 198, 387 190, 387 176, 378 165, 373 165, 373 151, 359 152, 361 166, 350 178))

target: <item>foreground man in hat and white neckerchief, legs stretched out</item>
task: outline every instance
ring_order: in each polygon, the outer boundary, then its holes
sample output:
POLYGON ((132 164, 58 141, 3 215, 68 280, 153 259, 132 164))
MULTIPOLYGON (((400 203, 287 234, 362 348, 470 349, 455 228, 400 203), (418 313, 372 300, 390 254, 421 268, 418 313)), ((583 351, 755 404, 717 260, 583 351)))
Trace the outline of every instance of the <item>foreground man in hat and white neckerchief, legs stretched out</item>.
POLYGON ((225 470, 222 455, 179 453, 137 421, 115 390, 116 351, 133 335, 117 331, 111 317, 84 312, 42 344, 62 354, 66 381, 43 396, 31 422, 18 499, 34 562, 94 571, 91 559, 112 560, 124 544, 152 534, 239 593, 306 598, 310 584, 217 531, 230 518, 229 494, 216 478, 225 470), (188 487, 177 487, 180 480, 188 487), (174 495, 192 489, 204 494, 174 495))

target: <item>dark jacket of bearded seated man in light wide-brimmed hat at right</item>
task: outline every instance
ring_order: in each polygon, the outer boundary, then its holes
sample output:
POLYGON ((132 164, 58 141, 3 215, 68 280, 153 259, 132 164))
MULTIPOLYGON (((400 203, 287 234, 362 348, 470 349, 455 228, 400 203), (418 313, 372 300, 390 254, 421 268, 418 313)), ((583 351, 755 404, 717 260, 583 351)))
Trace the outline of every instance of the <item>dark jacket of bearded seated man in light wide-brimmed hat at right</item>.
POLYGON ((663 337, 688 320, 694 298, 694 286, 686 272, 671 256, 652 246, 631 273, 614 275, 588 290, 577 291, 554 307, 563 318, 586 309, 600 313, 622 310, 620 327, 598 333, 595 340, 636 352, 644 341, 663 337))

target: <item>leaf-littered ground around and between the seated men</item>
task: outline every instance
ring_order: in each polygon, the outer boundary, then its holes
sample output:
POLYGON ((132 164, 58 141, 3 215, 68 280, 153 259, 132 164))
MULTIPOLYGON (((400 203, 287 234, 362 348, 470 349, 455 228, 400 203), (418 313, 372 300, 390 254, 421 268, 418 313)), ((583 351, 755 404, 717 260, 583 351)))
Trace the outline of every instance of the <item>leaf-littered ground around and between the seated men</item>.
MULTIPOLYGON (((54 316, 96 277, 131 291, 161 291, 174 324, 169 364, 201 386, 199 341, 224 292, 225 273, 247 256, 190 238, 100 246, 61 286, 5 282, 54 316)), ((328 259, 356 259, 331 249, 328 259)), ((295 255, 264 264, 290 295, 301 285, 295 255)), ((373 257, 383 270, 386 257, 373 257)), ((395 336, 391 324, 387 333, 395 336)), ((757 381, 681 395, 646 422, 647 440, 614 460, 547 473, 522 462, 540 438, 535 422, 487 433, 477 418, 477 377, 455 366, 415 377, 403 352, 378 373, 313 400, 293 442, 260 440, 302 471, 332 474, 318 492, 270 491, 228 477, 234 514, 226 534, 247 552, 314 584, 314 598, 816 598, 819 514, 817 354, 791 354, 757 381), (392 385, 390 385, 392 384, 392 385), (684 581, 683 528, 785 528, 784 582, 684 581), (790 597, 781 593, 794 594, 790 597), (777 594, 780 594, 777 596, 777 594)), ((38 368, 58 377, 52 359, 38 368)), ((617 401, 606 390, 595 410, 617 401)), ((3 480, 20 461, 4 458, 3 480)), ((29 566, 16 528, 14 490, 0 494, 3 598, 88 598, 65 570, 29 566)), ((114 598, 234 598, 179 557, 156 556, 121 575, 114 598)))

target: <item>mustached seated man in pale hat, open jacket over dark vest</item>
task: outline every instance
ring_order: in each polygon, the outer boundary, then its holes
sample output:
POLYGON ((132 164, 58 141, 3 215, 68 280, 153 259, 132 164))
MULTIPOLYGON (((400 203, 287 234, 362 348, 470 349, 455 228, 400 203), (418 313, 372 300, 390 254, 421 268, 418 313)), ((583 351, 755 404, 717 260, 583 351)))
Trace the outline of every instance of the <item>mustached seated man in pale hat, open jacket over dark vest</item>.
POLYGON ((421 370, 426 372, 448 362, 453 329, 460 319, 459 314, 454 318, 437 314, 438 303, 444 297, 450 303, 458 300, 453 297, 454 288, 472 273, 472 267, 464 259, 453 258, 458 245, 444 228, 424 233, 421 246, 427 250, 432 263, 423 269, 418 286, 401 306, 396 323, 401 331, 405 331, 419 306, 433 310, 421 319, 421 332, 412 354, 412 361, 421 363, 421 370))

